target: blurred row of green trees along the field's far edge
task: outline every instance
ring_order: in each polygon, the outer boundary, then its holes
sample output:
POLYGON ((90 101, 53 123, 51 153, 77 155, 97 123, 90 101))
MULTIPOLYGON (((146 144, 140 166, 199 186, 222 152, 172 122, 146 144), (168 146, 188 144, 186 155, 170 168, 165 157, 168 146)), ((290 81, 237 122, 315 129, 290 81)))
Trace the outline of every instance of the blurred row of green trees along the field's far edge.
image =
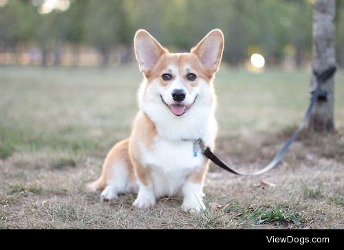
MULTIPOLYGON (((344 1, 336 1, 336 56, 344 65, 344 1)), ((133 60, 147 29, 184 52, 213 28, 226 37, 224 61, 310 65, 313 0, 0 0, 0 64, 114 65, 133 60)))

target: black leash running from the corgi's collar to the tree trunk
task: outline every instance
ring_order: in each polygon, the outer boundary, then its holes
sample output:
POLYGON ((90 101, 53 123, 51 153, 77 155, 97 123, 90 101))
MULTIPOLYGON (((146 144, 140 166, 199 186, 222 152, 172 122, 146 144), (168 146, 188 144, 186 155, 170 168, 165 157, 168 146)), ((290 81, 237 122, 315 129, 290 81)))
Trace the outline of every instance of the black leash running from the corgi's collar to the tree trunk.
POLYGON ((294 140, 299 135, 299 132, 301 132, 303 127, 305 127, 306 123, 308 122, 308 119, 310 118, 310 114, 312 112, 312 109, 314 107, 314 103, 316 102, 316 100, 323 100, 323 101, 327 100, 327 92, 321 89, 321 85, 325 83, 325 81, 330 79, 334 75, 334 72, 336 72, 336 66, 332 66, 328 68, 321 74, 313 70, 313 74, 314 76, 316 76, 316 88, 315 90, 312 90, 311 92, 312 98, 310 100, 310 105, 308 106, 308 110, 307 112, 305 112, 305 116, 303 117, 303 120, 301 121, 297 130, 288 139, 286 145, 283 146, 283 148, 275 155, 274 158, 272 158, 270 163, 266 167, 264 167, 264 169, 256 171, 255 173, 252 173, 252 174, 241 173, 235 169, 228 167, 226 164, 222 162, 222 160, 219 160, 219 158, 217 158, 217 156, 215 156, 213 152, 211 152, 211 149, 209 149, 209 147, 204 146, 204 144, 202 143, 202 140, 197 140, 197 143, 200 149, 202 150, 202 154, 204 154, 204 156, 209 158, 213 163, 215 163, 217 166, 221 167, 222 169, 225 169, 226 171, 229 171, 230 173, 237 174, 240 176, 257 176, 259 174, 265 173, 266 171, 269 171, 270 169, 273 169, 282 160, 283 156, 288 151, 290 145, 294 142, 294 140))

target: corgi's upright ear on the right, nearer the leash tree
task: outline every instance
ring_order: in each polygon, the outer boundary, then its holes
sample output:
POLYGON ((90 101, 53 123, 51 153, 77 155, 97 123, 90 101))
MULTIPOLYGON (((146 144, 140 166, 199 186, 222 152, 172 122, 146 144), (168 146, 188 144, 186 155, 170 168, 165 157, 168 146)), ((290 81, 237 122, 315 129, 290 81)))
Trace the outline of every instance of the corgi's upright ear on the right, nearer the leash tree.
POLYGON ((219 69, 219 63, 224 50, 224 34, 221 30, 209 32, 191 53, 196 54, 204 67, 210 74, 214 74, 219 69))

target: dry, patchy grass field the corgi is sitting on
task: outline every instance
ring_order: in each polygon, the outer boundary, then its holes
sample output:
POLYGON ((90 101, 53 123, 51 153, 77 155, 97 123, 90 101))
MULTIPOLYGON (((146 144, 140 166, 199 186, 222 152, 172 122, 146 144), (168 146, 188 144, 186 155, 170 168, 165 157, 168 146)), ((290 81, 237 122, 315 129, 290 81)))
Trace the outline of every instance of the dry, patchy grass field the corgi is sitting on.
MULTIPOLYGON (((343 72, 336 133, 303 132, 263 176, 211 165, 200 214, 184 213, 179 198, 144 211, 131 206, 132 194, 100 202, 85 189, 111 145, 129 136, 141 77, 136 65, 0 67, 0 228, 344 229, 343 72)), ((309 83, 309 72, 222 68, 217 154, 243 171, 263 167, 301 121, 309 83)))

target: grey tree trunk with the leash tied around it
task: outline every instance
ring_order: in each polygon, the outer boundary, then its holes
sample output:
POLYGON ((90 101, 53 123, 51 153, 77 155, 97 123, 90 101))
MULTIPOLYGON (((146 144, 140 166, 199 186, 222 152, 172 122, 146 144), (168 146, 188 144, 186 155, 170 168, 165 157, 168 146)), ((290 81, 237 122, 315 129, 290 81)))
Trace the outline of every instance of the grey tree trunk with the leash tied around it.
MULTIPOLYGON (((315 0, 313 10, 313 46, 312 67, 316 72, 323 72, 336 64, 334 53, 334 16, 335 0, 315 0)), ((312 87, 316 79, 312 76, 312 87)), ((327 100, 316 101, 310 116, 309 128, 316 132, 331 132, 334 130, 333 103, 334 78, 323 83, 327 92, 327 100)))

